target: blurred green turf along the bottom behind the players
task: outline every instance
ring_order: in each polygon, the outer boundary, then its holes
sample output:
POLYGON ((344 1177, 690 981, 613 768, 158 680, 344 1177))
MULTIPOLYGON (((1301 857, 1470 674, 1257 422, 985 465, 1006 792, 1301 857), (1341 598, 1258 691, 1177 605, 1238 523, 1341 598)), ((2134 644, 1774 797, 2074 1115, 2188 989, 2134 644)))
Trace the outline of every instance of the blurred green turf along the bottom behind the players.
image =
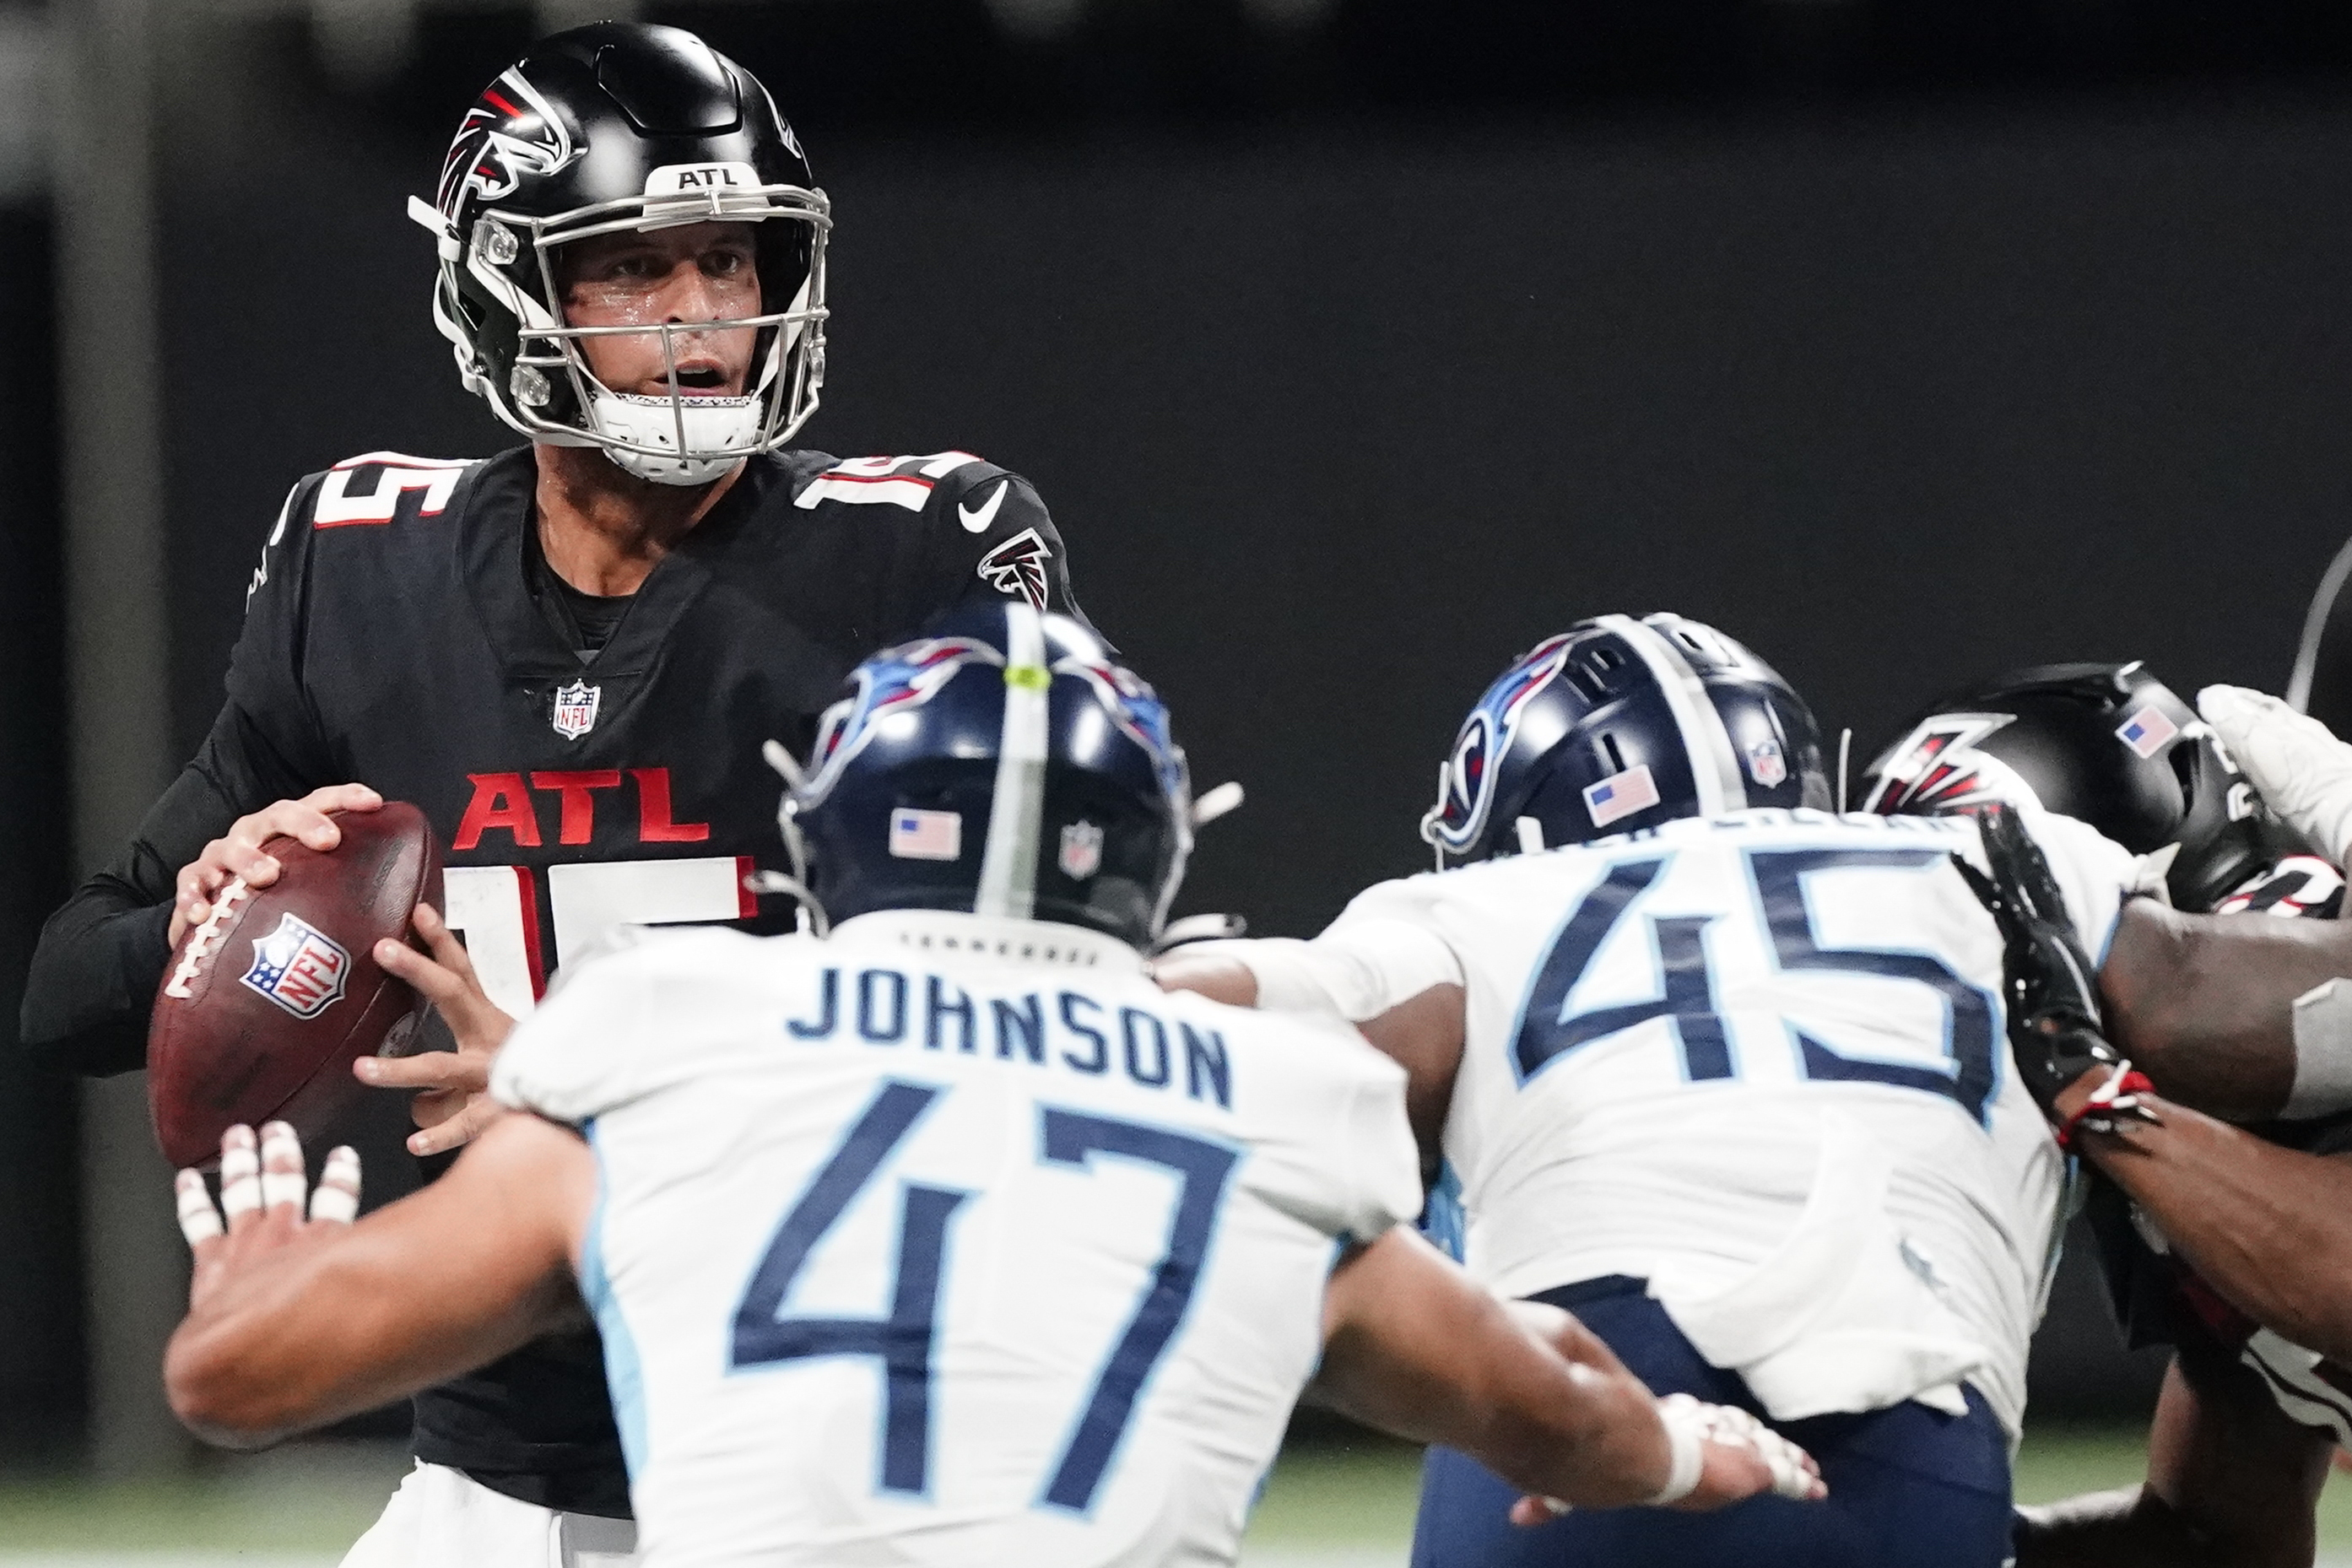
MULTIPOLYGON (((2042 1429, 2018 1455, 2018 1497, 2046 1502, 2140 1476, 2140 1436, 2042 1429)), ((0 1568, 332 1566, 383 1507, 407 1460, 376 1446, 207 1455, 179 1481, 101 1486, 0 1479, 0 1568)), ((1418 1455, 1404 1446, 1315 1446, 1284 1455, 1249 1530, 1251 1568, 1392 1568, 1414 1528, 1418 1455)), ((2352 1476, 2321 1507, 2321 1544, 2352 1568, 2352 1476)))

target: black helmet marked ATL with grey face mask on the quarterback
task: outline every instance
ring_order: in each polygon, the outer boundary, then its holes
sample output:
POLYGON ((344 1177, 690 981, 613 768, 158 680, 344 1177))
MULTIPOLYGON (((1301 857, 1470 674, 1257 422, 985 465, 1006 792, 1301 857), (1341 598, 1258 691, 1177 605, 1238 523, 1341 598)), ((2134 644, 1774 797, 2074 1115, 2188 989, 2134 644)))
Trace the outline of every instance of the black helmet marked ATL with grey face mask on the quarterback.
POLYGON ((663 484, 708 484, 774 451, 826 381, 830 205, 767 89, 694 33, 595 24, 555 33, 466 110, 440 193, 409 214, 440 240, 433 322, 466 390, 534 442, 602 447, 663 484), (750 223, 764 315, 743 397, 687 397, 677 336, 713 322, 572 327, 555 254, 593 235, 750 223), (602 386, 593 334, 661 334, 668 397, 602 386))

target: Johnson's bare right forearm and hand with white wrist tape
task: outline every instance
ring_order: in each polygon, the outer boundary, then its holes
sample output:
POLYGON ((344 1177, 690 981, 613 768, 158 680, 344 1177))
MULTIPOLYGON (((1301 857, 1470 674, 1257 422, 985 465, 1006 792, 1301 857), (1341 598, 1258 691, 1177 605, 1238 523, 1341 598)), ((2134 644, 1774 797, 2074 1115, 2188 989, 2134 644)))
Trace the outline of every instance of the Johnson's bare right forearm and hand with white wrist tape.
POLYGON ((1677 1474, 1658 1401, 1606 1345, 1557 1307, 1505 1307, 1404 1227, 1334 1269, 1308 1396, 1581 1507, 1719 1507, 1776 1483, 1820 1495, 1811 1462, 1769 1434, 1698 1439, 1677 1474))

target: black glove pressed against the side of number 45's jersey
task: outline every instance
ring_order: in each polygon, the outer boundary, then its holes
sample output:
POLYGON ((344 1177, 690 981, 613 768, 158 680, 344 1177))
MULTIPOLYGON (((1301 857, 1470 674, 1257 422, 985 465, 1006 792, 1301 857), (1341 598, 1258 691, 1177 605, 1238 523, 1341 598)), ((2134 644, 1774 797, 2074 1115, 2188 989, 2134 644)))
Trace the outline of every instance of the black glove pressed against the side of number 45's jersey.
POLYGON ((1976 816, 1992 877, 1952 853, 1992 919, 2002 926, 2002 1001, 2018 1077, 2051 1126, 2063 1126, 2058 1093, 2093 1067, 2126 1065, 2098 1032, 2098 978, 2065 912, 2049 860, 2009 806, 1976 816))

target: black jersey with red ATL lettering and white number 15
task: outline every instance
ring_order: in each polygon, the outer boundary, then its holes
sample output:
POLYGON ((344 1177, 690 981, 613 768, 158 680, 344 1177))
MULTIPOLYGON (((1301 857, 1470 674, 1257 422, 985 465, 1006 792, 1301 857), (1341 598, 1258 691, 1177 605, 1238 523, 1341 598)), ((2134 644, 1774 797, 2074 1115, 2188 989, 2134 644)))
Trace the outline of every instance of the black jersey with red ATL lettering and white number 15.
MULTIPOLYGON (((273 799, 358 780, 430 818, 449 924, 522 1013, 616 924, 748 922, 779 865, 779 778, 870 651, 971 595, 1077 614, 1030 484, 971 454, 753 458, 600 646, 532 571, 527 447, 369 454, 294 487, 247 595, 228 703, 129 851, 42 931, 35 1058, 141 1065, 172 879, 273 799)), ((626 1514, 593 1335, 532 1345, 416 1401, 419 1458, 517 1497, 626 1514)))

